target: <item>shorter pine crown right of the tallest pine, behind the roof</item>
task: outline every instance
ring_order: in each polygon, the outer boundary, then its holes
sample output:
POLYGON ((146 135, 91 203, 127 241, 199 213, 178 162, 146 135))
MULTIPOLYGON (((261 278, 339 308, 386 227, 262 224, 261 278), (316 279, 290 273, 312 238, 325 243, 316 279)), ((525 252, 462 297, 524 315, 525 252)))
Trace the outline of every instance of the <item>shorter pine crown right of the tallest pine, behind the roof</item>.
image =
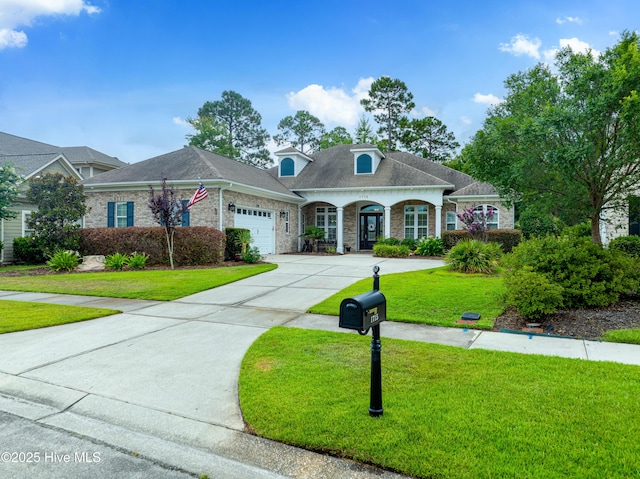
POLYGON ((436 117, 414 118, 401 122, 400 143, 407 151, 427 160, 443 163, 452 158, 460 143, 436 117))

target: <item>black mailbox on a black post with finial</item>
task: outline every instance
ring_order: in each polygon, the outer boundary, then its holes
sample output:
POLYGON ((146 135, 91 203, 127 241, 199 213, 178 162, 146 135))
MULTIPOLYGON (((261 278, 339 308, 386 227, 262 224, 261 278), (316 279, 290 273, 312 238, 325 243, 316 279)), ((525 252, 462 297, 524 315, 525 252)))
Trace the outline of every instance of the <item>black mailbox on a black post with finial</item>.
POLYGON ((360 334, 372 330, 371 339, 371 385, 369 415, 382 416, 382 367, 380 362, 380 323, 387 319, 387 300, 379 291, 380 268, 373 267, 373 291, 343 299, 340 303, 341 328, 355 329, 360 334))

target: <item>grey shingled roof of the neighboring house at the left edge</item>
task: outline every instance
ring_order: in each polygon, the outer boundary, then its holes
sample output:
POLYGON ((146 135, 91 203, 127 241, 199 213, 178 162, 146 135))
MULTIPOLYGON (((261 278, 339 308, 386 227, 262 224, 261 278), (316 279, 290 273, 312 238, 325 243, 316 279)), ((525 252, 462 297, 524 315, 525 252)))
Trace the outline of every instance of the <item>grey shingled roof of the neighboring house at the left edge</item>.
POLYGON ((116 157, 105 155, 87 146, 59 147, 0 132, 0 164, 13 163, 25 176, 39 171, 61 155, 74 166, 99 163, 120 168, 126 165, 116 157))

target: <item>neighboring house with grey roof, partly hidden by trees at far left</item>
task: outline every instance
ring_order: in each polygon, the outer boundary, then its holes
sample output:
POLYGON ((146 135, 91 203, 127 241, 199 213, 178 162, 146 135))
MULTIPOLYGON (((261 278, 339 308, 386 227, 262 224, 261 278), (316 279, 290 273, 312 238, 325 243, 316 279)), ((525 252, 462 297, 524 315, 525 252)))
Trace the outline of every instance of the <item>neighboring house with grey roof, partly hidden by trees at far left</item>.
MULTIPOLYGON (((11 163, 25 180, 45 173, 62 173, 78 180, 125 166, 126 163, 86 146, 57 147, 0 132, 0 165, 11 163)), ((13 261, 13 239, 28 236, 27 219, 35 206, 26 202, 26 182, 21 185, 17 213, 13 219, 0 222, 0 241, 4 249, 0 263, 13 261)))

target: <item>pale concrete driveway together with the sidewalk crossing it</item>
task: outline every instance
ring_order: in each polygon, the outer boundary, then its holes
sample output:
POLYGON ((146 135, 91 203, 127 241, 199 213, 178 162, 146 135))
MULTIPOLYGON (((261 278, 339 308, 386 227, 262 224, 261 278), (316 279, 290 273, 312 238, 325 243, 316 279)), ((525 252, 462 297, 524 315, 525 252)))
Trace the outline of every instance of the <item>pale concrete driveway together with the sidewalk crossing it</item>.
MULTIPOLYGON (((0 335, 0 411, 135 453, 160 467, 210 478, 400 477, 246 434, 237 378, 246 350, 272 326, 357 334, 339 329, 336 317, 305 311, 371 277, 373 265, 380 266, 384 291, 385 274, 442 263, 360 254, 280 255, 269 261, 278 269, 168 303, 0 292, 0 299, 123 311, 0 335)), ((640 347, 624 344, 392 322, 384 323, 381 333, 466 348, 640 365, 640 347)), ((48 466, 40 468, 49 474, 42 477, 56 477, 48 466)), ((106 461, 88 469, 93 475, 86 477, 110 477, 106 461)), ((14 472, 20 477, 20 469, 14 472)))

